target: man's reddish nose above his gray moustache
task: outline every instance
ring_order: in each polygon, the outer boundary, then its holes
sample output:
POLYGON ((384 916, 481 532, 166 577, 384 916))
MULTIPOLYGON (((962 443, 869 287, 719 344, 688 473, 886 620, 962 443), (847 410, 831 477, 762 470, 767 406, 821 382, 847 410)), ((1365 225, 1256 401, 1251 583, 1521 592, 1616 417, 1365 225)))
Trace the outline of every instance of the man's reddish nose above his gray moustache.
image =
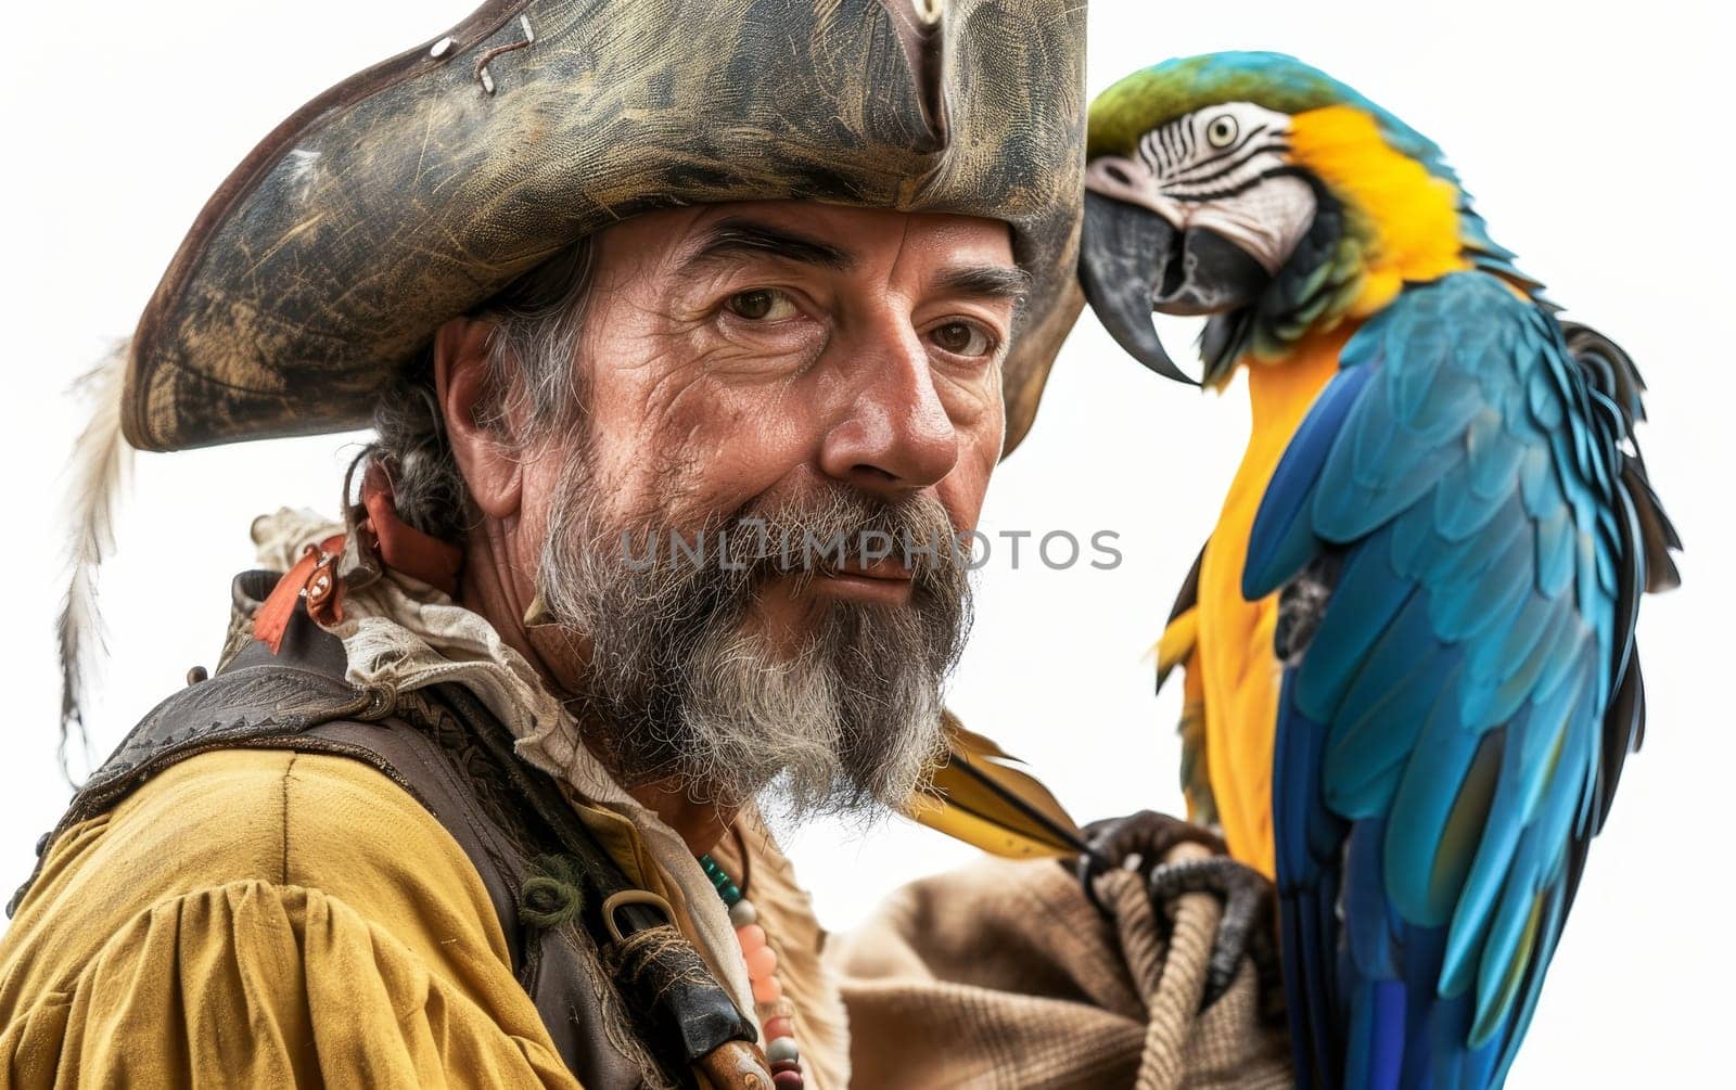
POLYGON ((958 463, 958 432, 934 389, 929 354, 908 326, 882 325, 865 340, 852 352, 845 403, 826 432, 819 467, 882 495, 927 488, 958 463))

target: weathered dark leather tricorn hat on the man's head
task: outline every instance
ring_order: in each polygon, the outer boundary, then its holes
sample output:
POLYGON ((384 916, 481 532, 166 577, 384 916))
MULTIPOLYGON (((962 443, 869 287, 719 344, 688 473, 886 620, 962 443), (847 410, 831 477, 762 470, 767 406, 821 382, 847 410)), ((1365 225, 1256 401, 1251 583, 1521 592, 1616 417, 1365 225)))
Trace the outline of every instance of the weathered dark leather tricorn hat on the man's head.
POLYGON ((1078 314, 1080 0, 490 0, 278 125, 139 321, 122 427, 359 427, 434 330, 635 212, 802 198, 1005 220, 1007 450, 1078 314))

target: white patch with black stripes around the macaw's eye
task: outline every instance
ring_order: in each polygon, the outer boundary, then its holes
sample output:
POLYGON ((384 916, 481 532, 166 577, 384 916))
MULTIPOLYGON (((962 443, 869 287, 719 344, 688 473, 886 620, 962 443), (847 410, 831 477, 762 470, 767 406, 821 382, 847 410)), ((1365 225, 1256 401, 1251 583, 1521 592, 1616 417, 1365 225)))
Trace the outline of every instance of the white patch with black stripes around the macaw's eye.
POLYGON ((1253 102, 1207 106, 1147 132, 1135 160, 1099 156, 1085 187, 1213 231, 1276 272, 1314 222, 1314 189, 1290 165, 1290 116, 1253 102))

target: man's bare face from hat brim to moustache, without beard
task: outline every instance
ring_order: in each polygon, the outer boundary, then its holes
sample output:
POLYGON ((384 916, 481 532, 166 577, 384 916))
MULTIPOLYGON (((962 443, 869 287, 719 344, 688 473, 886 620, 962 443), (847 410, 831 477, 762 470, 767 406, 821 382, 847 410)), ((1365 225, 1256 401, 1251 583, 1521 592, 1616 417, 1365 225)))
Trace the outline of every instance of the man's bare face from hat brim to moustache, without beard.
MULTIPOLYGON (((1024 283, 1005 224, 804 201, 654 212, 599 236, 594 276, 580 366, 613 515, 705 515, 844 484, 927 493, 976 526, 1024 283)), ((533 495, 562 470, 528 469, 533 495)), ((767 614, 792 618, 769 590, 767 614)), ((906 595, 837 575, 802 597, 906 595)))

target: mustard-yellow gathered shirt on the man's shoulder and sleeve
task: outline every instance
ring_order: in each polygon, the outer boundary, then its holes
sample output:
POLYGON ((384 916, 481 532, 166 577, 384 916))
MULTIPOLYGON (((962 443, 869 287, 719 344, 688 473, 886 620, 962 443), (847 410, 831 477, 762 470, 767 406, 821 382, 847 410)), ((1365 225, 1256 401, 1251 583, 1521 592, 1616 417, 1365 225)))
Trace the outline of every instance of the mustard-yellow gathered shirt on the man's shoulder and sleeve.
POLYGON ((464 850, 372 767, 191 757, 0 941, 0 1085, 576 1087, 464 850))

